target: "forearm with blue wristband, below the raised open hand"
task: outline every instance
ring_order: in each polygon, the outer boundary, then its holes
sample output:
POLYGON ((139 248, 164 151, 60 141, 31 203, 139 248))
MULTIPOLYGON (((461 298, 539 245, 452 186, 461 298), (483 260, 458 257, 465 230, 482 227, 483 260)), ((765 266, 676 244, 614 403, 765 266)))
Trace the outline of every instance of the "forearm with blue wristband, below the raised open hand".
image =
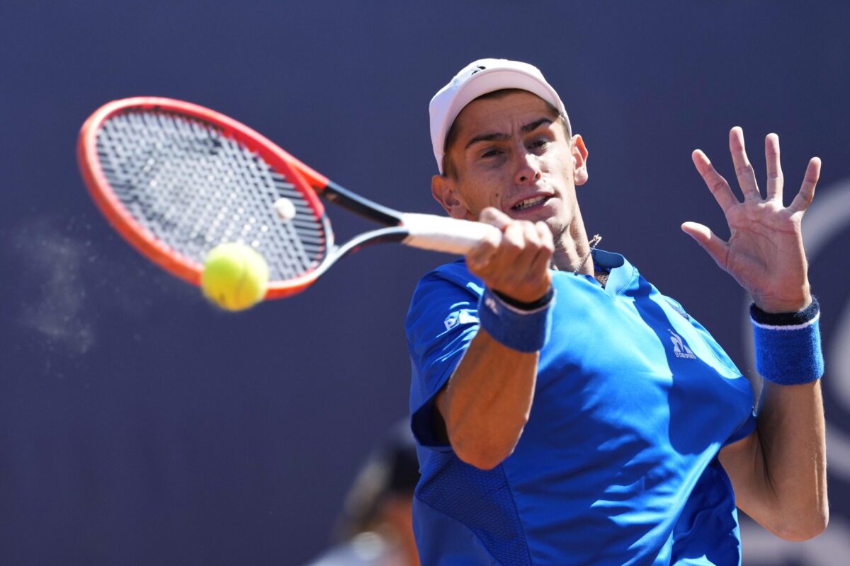
POLYGON ((724 449, 740 461, 727 457, 723 465, 739 507, 776 535, 804 540, 825 528, 829 513, 818 305, 751 315, 763 403, 749 443, 724 449))

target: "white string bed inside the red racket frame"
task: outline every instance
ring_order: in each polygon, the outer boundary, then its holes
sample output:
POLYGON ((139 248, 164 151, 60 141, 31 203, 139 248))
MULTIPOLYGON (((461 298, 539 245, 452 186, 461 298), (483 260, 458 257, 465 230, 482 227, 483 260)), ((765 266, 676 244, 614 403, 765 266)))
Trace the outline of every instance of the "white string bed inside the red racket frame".
POLYGON ((217 128, 184 115, 134 110, 105 120, 101 169, 119 199, 158 241, 197 264, 218 244, 251 245, 286 280, 320 264, 332 245, 303 193, 217 128), (274 203, 286 198, 285 221, 274 203))

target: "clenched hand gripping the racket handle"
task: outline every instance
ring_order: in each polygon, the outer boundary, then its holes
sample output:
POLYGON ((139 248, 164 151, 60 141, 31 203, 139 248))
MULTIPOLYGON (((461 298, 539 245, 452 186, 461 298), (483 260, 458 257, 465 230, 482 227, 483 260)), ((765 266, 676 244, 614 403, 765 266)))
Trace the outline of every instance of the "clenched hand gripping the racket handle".
POLYGON ((523 302, 540 299, 552 283, 549 266, 554 244, 546 224, 513 220, 496 209, 483 210, 480 220, 500 227, 501 239, 488 237, 470 251, 469 271, 490 289, 513 299, 523 302))

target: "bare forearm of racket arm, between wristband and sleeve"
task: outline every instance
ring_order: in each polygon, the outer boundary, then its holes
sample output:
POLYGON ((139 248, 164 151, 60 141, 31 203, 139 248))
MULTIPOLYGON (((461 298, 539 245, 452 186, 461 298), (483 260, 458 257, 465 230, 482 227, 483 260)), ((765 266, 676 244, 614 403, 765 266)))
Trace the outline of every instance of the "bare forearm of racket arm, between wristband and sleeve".
POLYGON ((510 456, 528 421, 537 359, 479 329, 436 400, 457 457, 490 469, 510 456))

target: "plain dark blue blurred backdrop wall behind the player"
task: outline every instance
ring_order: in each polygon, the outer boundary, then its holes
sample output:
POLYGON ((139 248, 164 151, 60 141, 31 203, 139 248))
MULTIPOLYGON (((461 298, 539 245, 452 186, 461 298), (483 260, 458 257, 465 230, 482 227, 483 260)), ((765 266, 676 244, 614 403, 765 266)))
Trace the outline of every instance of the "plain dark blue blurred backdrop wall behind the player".
MULTIPOLYGON (((679 229, 728 235, 690 152, 733 178, 728 130, 743 126, 763 178, 777 132, 786 194, 823 159, 804 232, 823 305, 831 523, 806 543, 742 530, 749 566, 850 556, 847 3, 6 0, 0 22, 0 563, 325 552, 355 476, 407 414, 411 290, 449 259, 367 249, 304 294, 216 311, 99 215, 77 173, 82 121, 115 98, 182 98, 377 202, 440 213, 428 100, 482 57, 541 68, 590 151, 588 231, 745 372, 746 298, 679 229)), ((366 227, 331 216, 343 240, 366 227)))

